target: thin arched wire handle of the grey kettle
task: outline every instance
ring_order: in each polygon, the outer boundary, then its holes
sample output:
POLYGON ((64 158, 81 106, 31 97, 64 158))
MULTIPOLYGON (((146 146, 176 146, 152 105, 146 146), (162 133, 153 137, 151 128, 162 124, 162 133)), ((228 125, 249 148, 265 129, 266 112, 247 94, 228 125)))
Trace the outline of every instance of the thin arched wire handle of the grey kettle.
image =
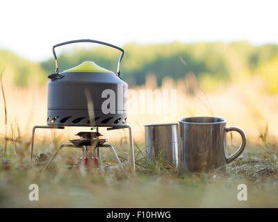
POLYGON ((55 46, 52 47, 52 52, 53 52, 53 56, 55 58, 55 64, 56 64, 56 69, 55 69, 56 74, 59 73, 59 67, 58 67, 58 59, 57 59, 57 56, 56 56, 55 48, 58 47, 58 46, 63 46, 65 44, 72 44, 72 43, 77 43, 77 42, 92 42, 92 43, 97 43, 97 44, 103 44, 105 46, 110 46, 114 49, 120 50, 122 53, 120 55, 119 61, 117 62, 117 76, 120 77, 120 64, 121 64, 121 61, 122 61, 122 57, 124 56, 124 49, 122 49, 118 46, 115 46, 113 44, 109 44, 109 43, 101 42, 101 41, 97 41, 97 40, 89 40, 89 39, 88 40, 72 40, 72 41, 62 42, 62 43, 56 44, 55 46))

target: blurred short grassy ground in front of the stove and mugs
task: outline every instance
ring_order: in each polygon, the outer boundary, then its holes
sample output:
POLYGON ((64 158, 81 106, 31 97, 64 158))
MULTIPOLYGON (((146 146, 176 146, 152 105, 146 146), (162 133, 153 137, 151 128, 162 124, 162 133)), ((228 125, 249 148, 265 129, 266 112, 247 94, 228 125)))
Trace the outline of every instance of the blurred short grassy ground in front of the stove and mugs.
POLYGON ((136 160, 142 166, 126 175, 69 169, 63 158, 47 171, 43 162, 30 167, 10 160, 1 166, 0 207, 278 207, 277 165, 259 148, 247 150, 252 151, 231 162, 227 173, 183 176, 161 162, 143 165, 140 152, 136 160), (31 184, 39 187, 39 201, 28 198, 31 184), (247 201, 238 200, 240 184, 247 185, 247 201))

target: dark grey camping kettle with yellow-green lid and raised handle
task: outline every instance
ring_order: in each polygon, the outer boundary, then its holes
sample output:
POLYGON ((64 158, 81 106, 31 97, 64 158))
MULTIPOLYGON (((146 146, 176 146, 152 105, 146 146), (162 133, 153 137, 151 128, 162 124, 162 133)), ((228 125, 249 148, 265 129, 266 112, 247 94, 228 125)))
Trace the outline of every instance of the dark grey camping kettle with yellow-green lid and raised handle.
POLYGON ((86 39, 56 44, 52 51, 56 69, 54 74, 48 76, 51 80, 48 83, 47 125, 126 126, 128 86, 120 76, 124 49, 106 42, 86 39), (56 47, 78 42, 92 42, 120 50, 117 74, 92 61, 84 61, 76 67, 59 72, 56 47), (90 102, 92 109, 88 108, 90 102), (92 111, 93 114, 90 114, 92 111))

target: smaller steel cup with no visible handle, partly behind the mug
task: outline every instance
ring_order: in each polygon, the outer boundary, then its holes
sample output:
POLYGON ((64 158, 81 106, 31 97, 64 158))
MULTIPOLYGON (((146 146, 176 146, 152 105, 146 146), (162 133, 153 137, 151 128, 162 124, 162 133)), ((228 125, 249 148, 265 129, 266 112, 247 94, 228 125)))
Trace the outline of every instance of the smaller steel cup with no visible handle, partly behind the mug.
POLYGON ((174 168, 178 167, 178 123, 145 125, 147 162, 158 157, 174 168))

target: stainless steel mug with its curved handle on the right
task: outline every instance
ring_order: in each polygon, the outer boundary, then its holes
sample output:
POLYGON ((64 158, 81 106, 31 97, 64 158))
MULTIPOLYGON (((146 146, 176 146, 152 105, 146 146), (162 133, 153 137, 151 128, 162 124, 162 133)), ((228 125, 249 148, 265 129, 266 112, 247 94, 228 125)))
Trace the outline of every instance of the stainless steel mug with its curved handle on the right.
POLYGON ((237 127, 226 128, 226 120, 217 117, 179 119, 179 173, 226 172, 226 165, 245 148, 246 136, 237 127), (238 151, 227 157, 226 135, 236 131, 242 138, 238 151))

